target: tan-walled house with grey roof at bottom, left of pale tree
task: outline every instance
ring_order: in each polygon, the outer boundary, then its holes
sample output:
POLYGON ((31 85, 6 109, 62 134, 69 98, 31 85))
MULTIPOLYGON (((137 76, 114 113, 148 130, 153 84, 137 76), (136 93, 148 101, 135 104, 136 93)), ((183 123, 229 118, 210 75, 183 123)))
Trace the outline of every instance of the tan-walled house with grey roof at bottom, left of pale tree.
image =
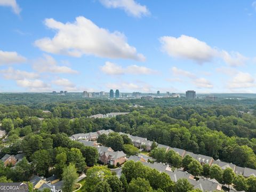
POLYGON ((49 178, 38 177, 34 175, 30 182, 33 184, 33 189, 37 189, 39 191, 43 189, 50 189, 52 192, 61 192, 61 188, 63 185, 63 181, 60 181, 58 177, 52 175, 49 178))

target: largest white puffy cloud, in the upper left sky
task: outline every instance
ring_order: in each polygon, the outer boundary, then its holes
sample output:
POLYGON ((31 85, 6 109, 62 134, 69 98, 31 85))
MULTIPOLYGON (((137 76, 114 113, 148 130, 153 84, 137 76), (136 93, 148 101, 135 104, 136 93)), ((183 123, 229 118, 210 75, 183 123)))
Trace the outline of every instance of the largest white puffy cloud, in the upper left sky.
POLYGON ((118 31, 110 33, 84 17, 77 17, 74 23, 46 19, 45 25, 57 31, 52 39, 45 37, 35 41, 35 45, 45 52, 73 57, 86 54, 105 58, 145 60, 142 54, 137 53, 135 47, 126 42, 124 34, 118 31))

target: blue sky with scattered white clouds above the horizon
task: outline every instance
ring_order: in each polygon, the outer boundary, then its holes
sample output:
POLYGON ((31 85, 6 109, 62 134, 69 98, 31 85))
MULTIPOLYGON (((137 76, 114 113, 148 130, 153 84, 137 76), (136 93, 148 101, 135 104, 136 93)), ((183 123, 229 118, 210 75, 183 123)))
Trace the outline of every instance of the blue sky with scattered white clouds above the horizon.
POLYGON ((253 93, 256 2, 0 0, 0 92, 253 93))

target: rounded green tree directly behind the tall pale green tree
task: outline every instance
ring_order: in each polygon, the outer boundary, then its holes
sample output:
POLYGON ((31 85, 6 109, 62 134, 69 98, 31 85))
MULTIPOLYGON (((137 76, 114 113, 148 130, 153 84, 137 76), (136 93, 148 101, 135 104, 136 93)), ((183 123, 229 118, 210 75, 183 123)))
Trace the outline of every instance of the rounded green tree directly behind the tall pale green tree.
POLYGON ((67 154, 68 163, 73 163, 79 173, 82 173, 85 169, 86 163, 83 154, 80 149, 71 148, 67 154))

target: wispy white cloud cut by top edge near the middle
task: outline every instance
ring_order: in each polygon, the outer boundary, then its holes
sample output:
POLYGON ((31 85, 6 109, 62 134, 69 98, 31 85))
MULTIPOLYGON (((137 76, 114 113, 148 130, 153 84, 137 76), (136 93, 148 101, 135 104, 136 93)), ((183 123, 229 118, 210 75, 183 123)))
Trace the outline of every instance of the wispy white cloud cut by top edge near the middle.
POLYGON ((145 5, 140 5, 134 0, 100 0, 107 8, 123 9, 127 14, 140 18, 149 15, 150 12, 145 5))

